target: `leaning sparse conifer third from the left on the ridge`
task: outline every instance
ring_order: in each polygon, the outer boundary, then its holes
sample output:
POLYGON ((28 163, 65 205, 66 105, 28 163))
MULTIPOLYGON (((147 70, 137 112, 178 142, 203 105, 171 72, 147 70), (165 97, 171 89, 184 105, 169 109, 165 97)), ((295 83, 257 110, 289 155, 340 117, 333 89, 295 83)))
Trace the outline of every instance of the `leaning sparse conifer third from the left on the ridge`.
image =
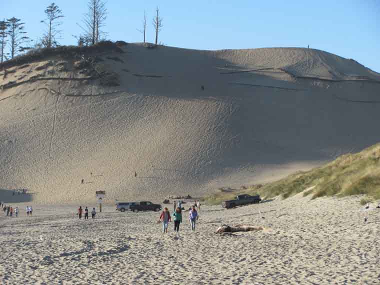
POLYGON ((57 5, 51 3, 44 10, 46 15, 46 19, 41 20, 41 22, 45 23, 47 26, 47 30, 42 36, 42 46, 44 47, 53 47, 57 46, 57 36, 60 34, 61 30, 58 27, 62 24, 62 22, 58 21, 59 18, 62 18, 62 10, 59 9, 57 5))

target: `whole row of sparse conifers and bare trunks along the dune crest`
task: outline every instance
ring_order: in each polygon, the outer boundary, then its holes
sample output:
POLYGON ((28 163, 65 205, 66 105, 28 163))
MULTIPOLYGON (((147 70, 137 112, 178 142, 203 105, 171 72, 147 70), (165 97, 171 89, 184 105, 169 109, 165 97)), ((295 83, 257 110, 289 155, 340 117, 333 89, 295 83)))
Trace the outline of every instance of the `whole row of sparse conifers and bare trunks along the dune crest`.
MULTIPOLYGON (((107 33, 104 31, 105 20, 107 17, 106 2, 103 0, 88 0, 87 12, 84 13, 82 21, 78 26, 81 29, 79 35, 73 35, 77 40, 78 46, 89 46, 105 40, 107 33)), ((40 20, 45 28, 41 37, 33 42, 27 36, 25 23, 16 17, 0 20, 0 63, 4 60, 12 59, 29 49, 59 46, 61 39, 62 10, 55 3, 51 3, 44 10, 45 18, 40 20)), ((142 29, 137 29, 143 34, 143 42, 146 39, 146 13, 142 21, 142 29)), ((161 31, 162 18, 159 15, 158 7, 152 20, 155 32, 155 44, 158 42, 158 34, 161 31)))

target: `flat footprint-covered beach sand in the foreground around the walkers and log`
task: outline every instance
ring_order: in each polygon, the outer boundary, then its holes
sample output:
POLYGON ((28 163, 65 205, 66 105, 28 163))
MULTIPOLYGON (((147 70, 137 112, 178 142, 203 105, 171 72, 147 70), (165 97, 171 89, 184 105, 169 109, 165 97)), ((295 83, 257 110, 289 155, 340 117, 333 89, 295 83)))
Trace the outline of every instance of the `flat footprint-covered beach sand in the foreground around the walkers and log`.
POLYGON ((378 284, 380 210, 360 211, 359 199, 203 205, 194 233, 184 219, 166 235, 156 212, 109 205, 79 220, 75 206, 35 206, 32 217, 0 216, 1 283, 378 284), (265 230, 215 234, 223 223, 265 230))

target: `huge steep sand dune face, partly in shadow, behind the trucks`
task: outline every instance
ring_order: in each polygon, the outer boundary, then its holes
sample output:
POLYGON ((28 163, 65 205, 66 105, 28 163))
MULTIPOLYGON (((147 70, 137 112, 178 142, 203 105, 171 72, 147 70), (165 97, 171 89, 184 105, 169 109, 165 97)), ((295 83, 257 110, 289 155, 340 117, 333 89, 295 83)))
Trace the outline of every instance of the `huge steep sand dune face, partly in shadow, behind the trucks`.
POLYGON ((380 140, 380 75, 355 61, 304 48, 122 50, 96 63, 119 86, 85 79, 78 58, 0 71, 0 188, 38 203, 98 189, 109 201, 199 195, 380 140))

